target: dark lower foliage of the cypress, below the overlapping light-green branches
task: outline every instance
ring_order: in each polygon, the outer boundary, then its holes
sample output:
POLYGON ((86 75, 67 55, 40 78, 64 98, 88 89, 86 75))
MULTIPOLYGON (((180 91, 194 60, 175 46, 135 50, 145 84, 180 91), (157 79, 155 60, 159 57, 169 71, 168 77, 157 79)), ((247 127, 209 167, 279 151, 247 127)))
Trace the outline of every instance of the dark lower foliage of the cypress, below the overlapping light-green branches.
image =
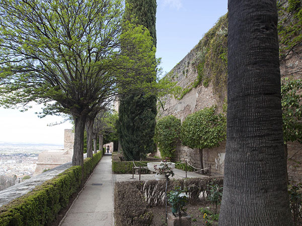
POLYGON ((124 158, 128 161, 143 159, 155 149, 154 118, 157 111, 149 107, 155 100, 141 95, 131 94, 120 98, 118 132, 124 158))

